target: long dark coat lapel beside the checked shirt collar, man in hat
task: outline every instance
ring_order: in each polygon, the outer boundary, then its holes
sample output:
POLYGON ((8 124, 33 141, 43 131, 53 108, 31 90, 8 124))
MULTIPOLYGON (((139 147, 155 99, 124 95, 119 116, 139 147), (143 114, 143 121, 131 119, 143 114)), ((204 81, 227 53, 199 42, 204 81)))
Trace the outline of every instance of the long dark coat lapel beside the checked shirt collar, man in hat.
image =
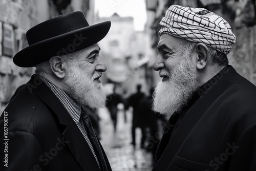
POLYGON ((90 146, 83 138, 72 117, 50 88, 36 75, 31 77, 27 83, 27 88, 31 93, 33 92, 39 99, 46 103, 56 114, 60 124, 63 125, 63 137, 66 141, 69 141, 67 145, 81 168, 83 170, 99 170, 90 146))

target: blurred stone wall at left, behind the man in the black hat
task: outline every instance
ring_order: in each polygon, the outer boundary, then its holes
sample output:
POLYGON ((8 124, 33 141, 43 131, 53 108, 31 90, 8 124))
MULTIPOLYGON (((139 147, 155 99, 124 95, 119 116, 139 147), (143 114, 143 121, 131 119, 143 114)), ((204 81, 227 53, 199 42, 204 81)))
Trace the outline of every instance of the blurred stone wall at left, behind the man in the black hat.
POLYGON ((25 84, 34 68, 17 67, 12 59, 27 45, 26 31, 37 24, 34 0, 0 2, 0 115, 15 90, 25 84))

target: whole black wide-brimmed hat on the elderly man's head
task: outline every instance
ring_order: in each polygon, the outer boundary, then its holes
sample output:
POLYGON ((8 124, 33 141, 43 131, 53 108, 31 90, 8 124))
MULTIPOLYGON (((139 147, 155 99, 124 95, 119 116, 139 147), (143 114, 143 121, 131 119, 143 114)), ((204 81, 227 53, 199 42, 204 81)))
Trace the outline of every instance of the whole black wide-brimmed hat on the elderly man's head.
POLYGON ((53 56, 61 56, 90 47, 109 32, 111 22, 89 26, 81 11, 63 14, 27 31, 29 46, 13 57, 19 67, 34 67, 53 56))

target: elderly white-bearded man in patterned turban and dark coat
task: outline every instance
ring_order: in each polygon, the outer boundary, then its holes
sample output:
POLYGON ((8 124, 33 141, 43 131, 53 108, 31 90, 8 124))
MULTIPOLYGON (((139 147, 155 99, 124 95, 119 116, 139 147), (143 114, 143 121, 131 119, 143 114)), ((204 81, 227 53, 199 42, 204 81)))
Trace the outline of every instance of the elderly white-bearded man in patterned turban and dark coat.
POLYGON ((228 65, 229 24, 173 5, 160 25, 153 108, 170 119, 153 170, 256 170, 256 87, 228 65))

